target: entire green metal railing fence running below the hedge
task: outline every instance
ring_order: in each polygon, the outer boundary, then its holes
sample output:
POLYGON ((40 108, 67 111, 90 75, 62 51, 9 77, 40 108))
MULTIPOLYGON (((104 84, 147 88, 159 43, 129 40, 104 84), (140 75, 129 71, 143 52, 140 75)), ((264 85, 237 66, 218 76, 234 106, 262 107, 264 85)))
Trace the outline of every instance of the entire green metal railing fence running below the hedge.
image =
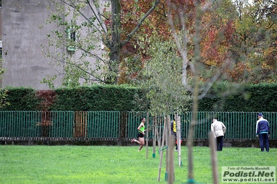
MULTIPOLYGON (((277 113, 264 112, 271 127, 270 139, 277 139, 277 113)), ((173 120, 174 114, 171 114, 173 120)), ((192 112, 181 113, 181 137, 187 138, 192 112)), ((0 111, 0 137, 19 138, 103 138, 128 140, 137 136, 140 118, 146 118, 149 138, 152 117, 147 112, 119 111, 0 111)), ((224 122, 225 138, 253 139, 257 112, 198 112, 195 138, 208 138, 212 118, 224 122)), ((164 118, 157 118, 163 129, 164 118)))

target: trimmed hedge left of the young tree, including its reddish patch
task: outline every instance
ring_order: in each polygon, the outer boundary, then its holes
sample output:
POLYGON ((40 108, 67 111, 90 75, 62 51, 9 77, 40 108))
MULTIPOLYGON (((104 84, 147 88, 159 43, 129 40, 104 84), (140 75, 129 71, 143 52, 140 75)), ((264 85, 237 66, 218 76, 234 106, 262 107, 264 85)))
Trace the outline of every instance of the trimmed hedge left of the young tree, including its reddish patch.
POLYGON ((145 111, 135 100, 146 98, 131 86, 92 85, 36 91, 8 88, 10 105, 1 111, 145 111))

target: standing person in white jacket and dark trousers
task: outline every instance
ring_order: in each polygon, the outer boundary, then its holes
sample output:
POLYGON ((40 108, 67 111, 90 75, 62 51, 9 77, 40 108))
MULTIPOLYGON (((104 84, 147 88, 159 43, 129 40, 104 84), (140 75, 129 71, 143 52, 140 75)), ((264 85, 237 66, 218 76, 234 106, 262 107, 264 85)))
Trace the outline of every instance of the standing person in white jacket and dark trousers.
POLYGON ((217 151, 222 151, 224 133, 226 127, 223 122, 217 120, 217 118, 212 118, 212 125, 210 126, 212 133, 217 139, 217 151))

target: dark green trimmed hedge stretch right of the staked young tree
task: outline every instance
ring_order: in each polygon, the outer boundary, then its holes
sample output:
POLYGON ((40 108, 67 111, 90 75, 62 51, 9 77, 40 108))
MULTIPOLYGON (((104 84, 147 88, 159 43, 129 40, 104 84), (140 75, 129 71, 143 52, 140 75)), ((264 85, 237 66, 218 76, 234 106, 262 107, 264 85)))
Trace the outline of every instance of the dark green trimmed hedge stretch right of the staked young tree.
MULTIPOLYGON (((226 89, 227 86, 220 91, 226 89)), ((199 111, 276 111, 277 84, 252 84, 229 90, 229 95, 212 90, 207 98, 199 102, 199 111)))

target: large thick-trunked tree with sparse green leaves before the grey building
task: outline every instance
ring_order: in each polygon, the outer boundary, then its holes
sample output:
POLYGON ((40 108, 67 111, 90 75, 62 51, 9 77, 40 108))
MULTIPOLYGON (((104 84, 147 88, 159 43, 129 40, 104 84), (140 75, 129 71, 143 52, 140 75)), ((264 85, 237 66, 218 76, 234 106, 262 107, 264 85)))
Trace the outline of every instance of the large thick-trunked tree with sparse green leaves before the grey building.
MULTIPOLYGON (((49 44, 43 46, 43 50, 53 60, 57 73, 42 82, 53 87, 53 80, 58 75, 63 75, 65 86, 77 86, 80 79, 85 84, 117 84, 121 49, 158 6, 159 0, 149 3, 149 9, 135 20, 136 26, 128 33, 121 27, 126 15, 121 12, 119 0, 106 4, 88 0, 51 0, 51 3, 52 12, 47 24, 55 24, 57 29, 48 35, 49 44), (121 39, 122 35, 126 35, 124 39, 121 39), (71 51, 65 52, 65 47, 71 51), (96 59, 96 63, 89 62, 89 58, 96 59)), ((137 6, 136 1, 133 6, 137 6)))

